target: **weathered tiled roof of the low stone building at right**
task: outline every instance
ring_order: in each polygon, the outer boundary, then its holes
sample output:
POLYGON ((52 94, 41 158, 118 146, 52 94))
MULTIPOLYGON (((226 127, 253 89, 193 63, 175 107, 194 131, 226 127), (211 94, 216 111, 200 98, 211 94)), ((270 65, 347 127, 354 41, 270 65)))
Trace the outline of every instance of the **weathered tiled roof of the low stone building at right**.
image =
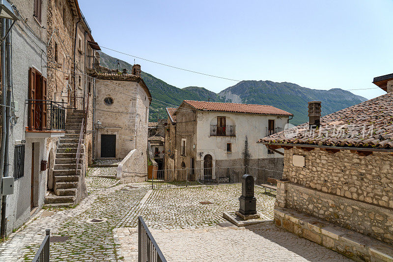
POLYGON ((393 93, 387 93, 321 117, 314 132, 307 122, 258 142, 392 149, 392 129, 393 93))

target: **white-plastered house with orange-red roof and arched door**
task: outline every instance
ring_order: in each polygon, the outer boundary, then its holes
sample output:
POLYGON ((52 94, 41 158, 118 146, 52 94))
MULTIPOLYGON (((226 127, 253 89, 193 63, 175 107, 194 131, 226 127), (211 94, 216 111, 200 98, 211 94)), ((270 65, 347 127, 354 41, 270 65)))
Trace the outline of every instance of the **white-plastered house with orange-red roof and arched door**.
MULTIPOLYGON (((255 141, 261 135, 283 129, 292 114, 273 106, 185 100, 173 115, 176 116, 174 169, 190 169, 190 179, 214 180, 221 177, 216 174, 219 170, 226 172, 225 168, 231 167, 282 170, 282 156, 255 141), (251 153, 247 158, 243 156, 246 142, 251 153), (195 173, 198 170, 200 174, 195 173)), ((171 146, 168 150, 171 151, 171 146)), ((172 162, 166 161, 167 166, 172 162)), ((171 175, 169 179, 186 179, 184 172, 171 175)))

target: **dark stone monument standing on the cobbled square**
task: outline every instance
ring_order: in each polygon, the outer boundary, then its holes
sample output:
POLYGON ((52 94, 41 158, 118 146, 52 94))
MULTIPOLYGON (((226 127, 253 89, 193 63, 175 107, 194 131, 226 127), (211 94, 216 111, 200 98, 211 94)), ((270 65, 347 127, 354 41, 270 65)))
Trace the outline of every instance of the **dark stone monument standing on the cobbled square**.
POLYGON ((252 175, 242 176, 242 195, 239 198, 240 208, 236 215, 244 220, 259 218, 256 212, 256 198, 254 197, 254 177, 252 175))

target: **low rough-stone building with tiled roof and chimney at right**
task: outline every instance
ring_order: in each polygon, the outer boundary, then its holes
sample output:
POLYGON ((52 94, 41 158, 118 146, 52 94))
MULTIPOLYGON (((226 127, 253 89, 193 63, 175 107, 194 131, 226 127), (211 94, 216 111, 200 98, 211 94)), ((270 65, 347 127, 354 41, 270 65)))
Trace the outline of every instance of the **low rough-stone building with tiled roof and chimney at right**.
MULTIPOLYGON (((374 83, 393 83, 384 77, 374 83)), ((309 103, 311 125, 259 140, 285 149, 276 224, 357 261, 391 261, 393 93, 319 118, 320 106, 309 103)))

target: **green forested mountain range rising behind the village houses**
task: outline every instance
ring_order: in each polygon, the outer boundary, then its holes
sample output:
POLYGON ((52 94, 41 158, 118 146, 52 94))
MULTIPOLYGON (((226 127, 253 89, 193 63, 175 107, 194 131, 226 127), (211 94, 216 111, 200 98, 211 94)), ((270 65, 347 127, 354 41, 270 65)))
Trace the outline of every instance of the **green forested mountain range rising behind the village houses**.
MULTIPOLYGON (((131 64, 103 52, 100 52, 100 55, 102 66, 117 68, 118 61, 119 70, 126 68, 128 72, 131 72, 131 64)), ((149 121, 156 121, 157 118, 167 118, 166 107, 179 106, 183 100, 198 100, 272 105, 292 113, 294 116, 290 122, 298 125, 308 121, 309 101, 321 101, 322 116, 325 116, 367 100, 340 88, 330 90, 310 89, 287 82, 247 80, 215 93, 204 87, 174 87, 143 71, 141 72, 141 78, 153 97, 150 105, 149 121)))

